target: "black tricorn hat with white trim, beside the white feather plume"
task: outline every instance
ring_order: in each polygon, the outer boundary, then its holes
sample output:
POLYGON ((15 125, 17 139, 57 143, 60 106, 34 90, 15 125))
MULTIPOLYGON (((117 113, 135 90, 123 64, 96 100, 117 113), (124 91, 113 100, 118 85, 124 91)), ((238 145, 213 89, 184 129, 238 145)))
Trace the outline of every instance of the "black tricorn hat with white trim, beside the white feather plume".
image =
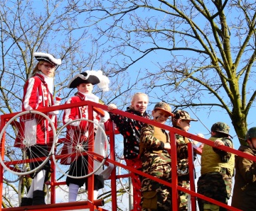
POLYGON ((76 74, 68 83, 68 88, 76 88, 80 84, 99 84, 100 79, 92 74, 87 74, 87 72, 82 72, 76 74))

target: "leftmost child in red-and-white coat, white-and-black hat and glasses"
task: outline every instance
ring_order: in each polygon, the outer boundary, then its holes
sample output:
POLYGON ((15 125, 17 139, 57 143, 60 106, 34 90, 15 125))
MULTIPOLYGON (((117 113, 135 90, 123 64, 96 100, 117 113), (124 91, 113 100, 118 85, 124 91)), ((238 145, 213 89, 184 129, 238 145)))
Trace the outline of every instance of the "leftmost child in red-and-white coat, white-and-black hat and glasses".
MULTIPOLYGON (((35 52, 34 57, 38 60, 36 67, 33 69, 31 77, 26 81, 23 91, 22 111, 33 110, 53 106, 53 76, 55 69, 61 64, 60 59, 55 59, 53 55, 43 52, 35 52)), ((55 112, 48 113, 49 118, 55 112)), ((56 122, 56 121, 55 121, 56 122)), ((22 147, 22 142, 29 139, 31 150, 28 150, 28 158, 48 156, 48 144, 53 139, 50 127, 47 121, 37 122, 36 117, 30 120, 23 120, 21 117, 21 127, 23 132, 23 140, 16 142, 16 147, 22 147), (31 128, 36 128, 32 133, 31 128)), ((35 169, 39 162, 31 163, 30 168, 35 169)), ((33 181, 26 197, 21 199, 21 206, 27 205, 44 205, 45 194, 43 192, 43 184, 47 179, 50 171, 50 163, 47 162, 40 171, 31 175, 33 181)))

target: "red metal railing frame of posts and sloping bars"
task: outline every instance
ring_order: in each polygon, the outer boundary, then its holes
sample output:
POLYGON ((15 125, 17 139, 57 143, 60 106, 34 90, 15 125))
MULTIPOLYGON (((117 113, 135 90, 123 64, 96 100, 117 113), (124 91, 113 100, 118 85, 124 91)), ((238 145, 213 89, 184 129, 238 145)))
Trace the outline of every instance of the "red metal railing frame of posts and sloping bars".
MULTIPOLYGON (((92 120, 93 118, 93 110, 97 111, 97 113, 100 113, 101 115, 104 115, 104 112, 102 112, 102 110, 107 110, 107 106, 106 105, 101 105, 98 103, 94 103, 91 101, 82 101, 79 103, 73 103, 73 104, 65 104, 65 105, 58 105, 58 106, 54 106, 54 107, 50 107, 50 108, 42 108, 38 111, 41 111, 43 113, 48 113, 50 111, 53 110, 63 110, 66 108, 73 108, 73 107, 77 107, 77 106, 82 106, 82 105, 88 105, 88 110, 89 110, 89 118, 92 120)), ((181 130, 177 130, 174 127, 170 127, 169 125, 162 125, 159 122, 154 122, 152 120, 148 120, 142 117, 139 117, 137 115, 132 115, 130 113, 127 112, 123 112, 122 110, 112 110, 112 113, 116 113, 118 115, 124 115, 127 118, 132 118, 134 120, 139 120, 141 122, 145 122, 148 123, 150 125, 154 125, 156 127, 161 127, 164 130, 167 130, 170 132, 170 137, 171 137, 171 169, 176 169, 177 166, 177 161, 176 161, 176 138, 175 138, 175 134, 179 134, 179 135, 183 135, 184 137, 188 137, 188 139, 193 139, 196 140, 198 142, 201 142, 203 144, 208 144, 210 146, 213 147, 213 142, 209 141, 208 139, 204 139, 201 137, 198 137, 196 135, 190 134, 188 132, 184 132, 181 130)), ((6 124, 7 120, 9 120, 10 118, 12 118, 14 115, 16 115, 18 113, 10 113, 10 114, 6 114, 6 115, 1 115, 0 116, 0 129, 2 130, 4 125, 6 124)), ((110 157, 106 160, 106 162, 108 163, 112 163, 115 166, 121 166, 124 169, 127 169, 128 171, 132 171, 134 173, 137 173, 141 176, 144 177, 148 177, 151 178, 154 181, 157 181, 159 183, 163 183, 166 186, 169 186, 172 188, 172 210, 178 210, 178 203, 177 203, 177 199, 178 199, 178 190, 182 190, 183 192, 186 192, 188 194, 191 195, 191 210, 196 210, 196 198, 202 198, 204 200, 208 200, 210 203, 215 203, 216 205, 220 205, 222 207, 225 207, 227 209, 230 210, 238 210, 235 209, 234 207, 230 207, 228 205, 225 205, 223 203, 219 203, 216 200, 207 198, 203 195, 200 195, 198 193, 196 193, 196 189, 195 189, 195 178, 194 178, 194 174, 190 173, 190 181, 191 181, 191 190, 186 190, 185 188, 181 188, 180 186, 178 186, 178 177, 177 177, 177 173, 176 171, 172 171, 171 172, 171 178, 172 178, 172 183, 168 183, 166 181, 162 181, 159 178, 154 178, 153 176, 150 176, 146 173, 143 173, 142 171, 139 171, 137 169, 134 169, 130 166, 126 166, 124 164, 120 164, 119 162, 117 162, 115 160, 115 152, 114 152, 114 135, 118 133, 118 131, 114 128, 114 125, 112 124, 112 122, 108 122, 108 124, 106 125, 106 134, 109 137, 109 141, 110 141, 110 157)), ((4 138, 1 141, 0 144, 0 152, 1 154, 3 154, 4 152, 4 138)), ((231 152, 233 154, 237 154, 238 156, 242 156, 245 157, 247 159, 251 159, 252 161, 256 161, 256 157, 255 156, 251 156, 248 154, 245 154, 243 152, 240 152, 236 149, 230 149, 229 147, 225 147, 225 146, 221 146, 218 147, 220 149, 223 149, 227 152, 231 152)), ((193 166, 193 153, 201 153, 201 149, 198 148, 194 148, 194 146, 192 144, 188 144, 188 161, 189 161, 189 169, 190 172, 193 172, 194 166, 193 166)), ((93 150, 93 149, 91 149, 93 150)), ((100 158, 99 155, 95 155, 97 157, 100 158)), ((93 165, 93 161, 90 161, 93 165)), ((55 169, 55 166, 53 164, 53 162, 51 162, 52 164, 52 168, 55 169)), ((0 165, 0 172, 3 172, 3 166, 0 165)), ((90 169, 90 171, 92 171, 92 169, 90 169)), ((89 172, 90 172, 89 171, 89 172)), ((75 202, 75 203, 55 203, 55 186, 58 186, 60 183, 58 183, 57 181, 55 181, 55 171, 53 171, 53 173, 51 174, 52 180, 49 183, 49 185, 51 186, 51 192, 50 192, 50 205, 40 205, 40 206, 31 206, 29 208, 26 208, 26 210, 78 210, 81 208, 89 208, 90 210, 105 210, 104 208, 100 207, 100 205, 102 205, 102 200, 92 200, 93 199, 93 180, 94 177, 90 176, 90 178, 88 178, 88 200, 87 201, 80 201, 80 202, 75 202)), ((116 211, 117 210, 117 184, 116 184, 116 180, 117 178, 120 178, 121 176, 117 176, 117 172, 116 169, 114 168, 112 171, 112 175, 110 176, 110 180, 111 180, 111 193, 112 193, 112 210, 116 211)), ((3 173, 0 173, 0 194, 2 196, 3 194, 3 173)), ((2 203, 2 197, 0 196, 0 202, 2 203)), ((23 207, 12 207, 12 208, 0 208, 0 210, 24 210, 23 207)))

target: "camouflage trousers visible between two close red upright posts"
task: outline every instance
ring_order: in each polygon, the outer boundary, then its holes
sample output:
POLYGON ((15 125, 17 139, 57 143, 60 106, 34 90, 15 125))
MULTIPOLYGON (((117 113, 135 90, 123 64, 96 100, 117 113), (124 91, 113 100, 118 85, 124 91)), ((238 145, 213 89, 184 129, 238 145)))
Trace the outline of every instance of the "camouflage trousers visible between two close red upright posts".
MULTIPOLYGON (((181 186, 182 188, 190 189, 190 183, 189 181, 178 181, 178 186, 181 186)), ((178 190, 178 210, 179 211, 186 211, 188 210, 188 200, 189 200, 189 194, 186 192, 183 192, 181 190, 178 190)))

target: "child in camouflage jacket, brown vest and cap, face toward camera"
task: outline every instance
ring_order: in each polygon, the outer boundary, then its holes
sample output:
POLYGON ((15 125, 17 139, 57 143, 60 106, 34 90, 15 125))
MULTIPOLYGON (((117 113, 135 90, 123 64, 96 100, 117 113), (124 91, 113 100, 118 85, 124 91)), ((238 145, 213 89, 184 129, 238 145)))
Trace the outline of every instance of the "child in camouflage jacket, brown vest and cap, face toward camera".
MULTIPOLYGON (((171 107, 164 102, 156 103, 153 120, 165 124, 173 116, 171 107)), ((139 143, 142 171, 171 182, 171 149, 169 133, 160 127, 144 124, 139 143)), ((142 179, 142 210, 170 210, 171 188, 149 178, 142 179)))

